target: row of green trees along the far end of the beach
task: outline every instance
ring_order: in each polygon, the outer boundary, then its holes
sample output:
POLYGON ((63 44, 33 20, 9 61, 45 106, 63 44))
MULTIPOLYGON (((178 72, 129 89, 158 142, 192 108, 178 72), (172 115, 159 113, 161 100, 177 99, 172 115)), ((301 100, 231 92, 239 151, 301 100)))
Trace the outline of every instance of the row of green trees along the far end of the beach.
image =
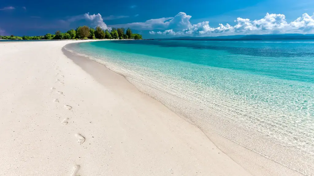
POLYGON ((112 28, 104 30, 100 26, 89 28, 88 26, 79 26, 75 30, 71 29, 65 33, 61 31, 55 34, 46 34, 44 36, 0 36, 0 39, 8 40, 62 40, 62 39, 142 39, 142 35, 133 34, 130 28, 125 31, 124 28, 112 28))

